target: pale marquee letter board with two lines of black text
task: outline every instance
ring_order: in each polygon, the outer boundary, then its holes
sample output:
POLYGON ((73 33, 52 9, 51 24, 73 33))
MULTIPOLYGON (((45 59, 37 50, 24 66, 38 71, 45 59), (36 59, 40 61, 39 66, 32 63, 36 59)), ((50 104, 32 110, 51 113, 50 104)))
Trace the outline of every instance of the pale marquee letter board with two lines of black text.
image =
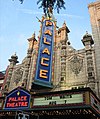
POLYGON ((41 106, 65 106, 72 104, 82 104, 83 94, 60 94, 44 97, 34 97, 33 107, 41 106))

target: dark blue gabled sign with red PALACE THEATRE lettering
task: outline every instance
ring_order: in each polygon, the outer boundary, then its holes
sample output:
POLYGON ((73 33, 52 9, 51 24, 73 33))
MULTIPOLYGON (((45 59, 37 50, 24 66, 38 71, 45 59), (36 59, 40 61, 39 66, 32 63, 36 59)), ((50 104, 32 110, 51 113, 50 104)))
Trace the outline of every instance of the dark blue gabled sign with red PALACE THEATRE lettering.
POLYGON ((30 94, 22 88, 11 91, 5 101, 4 109, 23 109, 30 107, 30 94))

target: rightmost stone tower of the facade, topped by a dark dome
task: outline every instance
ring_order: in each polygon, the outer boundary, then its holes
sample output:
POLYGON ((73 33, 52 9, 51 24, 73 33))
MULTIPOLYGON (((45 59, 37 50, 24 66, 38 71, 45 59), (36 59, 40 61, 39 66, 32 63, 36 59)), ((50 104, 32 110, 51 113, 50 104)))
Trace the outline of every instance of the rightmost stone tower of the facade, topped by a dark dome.
POLYGON ((82 42, 85 46, 85 52, 86 52, 86 63, 87 63, 87 78, 88 78, 88 84, 92 90, 95 91, 95 64, 93 59, 93 47, 94 41, 92 39, 92 36, 86 32, 86 34, 83 36, 82 42))

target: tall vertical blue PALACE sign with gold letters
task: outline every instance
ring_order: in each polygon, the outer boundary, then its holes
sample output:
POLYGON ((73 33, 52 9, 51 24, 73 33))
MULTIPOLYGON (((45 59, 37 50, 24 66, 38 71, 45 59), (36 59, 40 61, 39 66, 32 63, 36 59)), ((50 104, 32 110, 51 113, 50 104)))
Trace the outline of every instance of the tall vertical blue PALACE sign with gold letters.
POLYGON ((54 25, 50 20, 42 24, 36 76, 34 83, 51 87, 54 25))

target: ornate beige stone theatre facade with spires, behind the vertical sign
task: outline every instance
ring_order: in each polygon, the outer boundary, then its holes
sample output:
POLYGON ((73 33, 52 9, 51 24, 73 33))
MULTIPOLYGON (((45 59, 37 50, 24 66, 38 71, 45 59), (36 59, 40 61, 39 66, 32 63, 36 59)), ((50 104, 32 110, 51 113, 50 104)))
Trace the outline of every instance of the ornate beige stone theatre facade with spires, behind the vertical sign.
MULTIPOLYGON (((29 47, 22 63, 17 65, 18 57, 16 54, 12 55, 9 59, 10 64, 6 70, 2 94, 10 92, 18 86, 33 92, 61 91, 90 87, 99 96, 100 84, 98 84, 98 81, 100 79, 97 77, 100 77, 100 64, 98 65, 97 62, 100 61, 100 53, 97 52, 100 52, 100 38, 94 44, 92 36, 86 32, 82 39, 84 48, 75 50, 69 42, 68 33, 70 31, 66 23, 64 22, 62 27, 57 29, 55 20, 53 21, 52 88, 46 90, 45 88, 38 89, 40 85, 34 85, 40 37, 42 34, 42 21, 44 19, 43 17, 40 21, 41 26, 38 39, 35 38, 35 34, 28 39, 29 47), (98 48, 97 45, 99 45, 98 48)), ((93 35, 95 39, 97 35, 95 33, 93 35)))

